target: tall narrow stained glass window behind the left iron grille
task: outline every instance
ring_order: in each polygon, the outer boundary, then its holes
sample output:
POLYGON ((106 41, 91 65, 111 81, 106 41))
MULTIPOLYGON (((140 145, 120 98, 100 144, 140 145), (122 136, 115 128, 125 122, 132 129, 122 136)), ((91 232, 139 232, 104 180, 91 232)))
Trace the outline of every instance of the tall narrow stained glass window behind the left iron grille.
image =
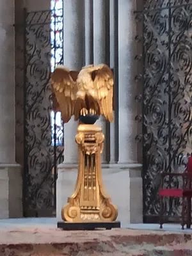
MULTIPOLYGON (((63 64, 63 0, 51 0, 51 72, 63 64)), ((51 111, 52 145, 63 146, 61 113, 51 111)))

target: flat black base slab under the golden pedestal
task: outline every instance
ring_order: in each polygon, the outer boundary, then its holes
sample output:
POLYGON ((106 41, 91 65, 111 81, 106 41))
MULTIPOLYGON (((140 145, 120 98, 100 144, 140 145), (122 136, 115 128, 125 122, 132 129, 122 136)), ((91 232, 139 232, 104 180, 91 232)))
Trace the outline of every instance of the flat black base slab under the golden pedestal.
POLYGON ((58 222, 58 228, 62 228, 63 230, 95 230, 99 228, 105 228, 110 230, 111 228, 120 228, 120 221, 114 222, 78 222, 71 223, 65 221, 58 222))

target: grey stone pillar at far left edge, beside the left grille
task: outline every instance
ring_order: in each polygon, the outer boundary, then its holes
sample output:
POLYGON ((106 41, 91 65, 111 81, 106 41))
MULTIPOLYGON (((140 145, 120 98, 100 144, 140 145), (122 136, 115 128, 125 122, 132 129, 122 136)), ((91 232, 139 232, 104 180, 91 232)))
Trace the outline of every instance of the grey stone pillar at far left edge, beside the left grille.
POLYGON ((0 218, 22 217, 22 175, 15 162, 14 1, 0 7, 0 218))

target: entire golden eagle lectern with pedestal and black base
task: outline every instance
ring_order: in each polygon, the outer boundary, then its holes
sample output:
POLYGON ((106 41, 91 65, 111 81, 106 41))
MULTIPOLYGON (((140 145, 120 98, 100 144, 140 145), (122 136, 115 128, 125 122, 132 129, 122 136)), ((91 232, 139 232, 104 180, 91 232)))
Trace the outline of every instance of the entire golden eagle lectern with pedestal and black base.
POLYGON ((89 65, 80 72, 59 65, 51 77, 56 105, 64 123, 79 120, 76 143, 79 170, 74 194, 61 210, 63 229, 120 227, 118 211, 102 182, 101 160, 104 134, 95 125, 100 115, 113 122, 113 72, 108 65, 89 65))

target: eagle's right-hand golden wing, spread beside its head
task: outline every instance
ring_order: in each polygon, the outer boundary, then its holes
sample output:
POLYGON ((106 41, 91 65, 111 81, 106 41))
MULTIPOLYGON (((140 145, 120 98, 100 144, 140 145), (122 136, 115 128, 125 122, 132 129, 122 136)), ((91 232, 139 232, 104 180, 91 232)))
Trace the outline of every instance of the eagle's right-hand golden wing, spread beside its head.
POLYGON ((113 122, 113 72, 108 65, 101 65, 92 72, 94 88, 97 90, 100 113, 113 122))

